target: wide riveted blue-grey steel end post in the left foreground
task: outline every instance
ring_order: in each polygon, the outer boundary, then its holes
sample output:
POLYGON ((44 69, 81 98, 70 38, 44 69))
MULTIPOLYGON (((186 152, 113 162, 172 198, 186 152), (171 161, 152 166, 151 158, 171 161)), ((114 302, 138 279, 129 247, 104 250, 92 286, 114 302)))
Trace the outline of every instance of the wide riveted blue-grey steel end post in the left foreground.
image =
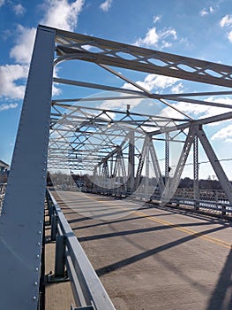
POLYGON ((38 302, 55 29, 38 27, 0 222, 0 309, 38 302))

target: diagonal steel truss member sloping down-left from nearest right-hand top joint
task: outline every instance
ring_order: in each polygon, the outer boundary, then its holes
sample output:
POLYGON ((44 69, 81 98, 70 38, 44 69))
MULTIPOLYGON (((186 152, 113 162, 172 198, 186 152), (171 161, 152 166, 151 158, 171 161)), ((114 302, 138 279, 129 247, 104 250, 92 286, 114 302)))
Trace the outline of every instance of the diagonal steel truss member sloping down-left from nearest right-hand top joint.
POLYGON ((168 201, 170 201, 170 199, 173 198, 173 196, 176 193, 177 187, 181 179, 181 175, 183 173, 184 165, 191 151, 191 144, 194 141, 195 135, 196 135, 196 128, 195 126, 191 126, 189 128, 188 136, 183 145, 183 150, 177 163, 175 174, 173 175, 173 177, 168 178, 168 182, 166 183, 166 186, 163 190, 161 196, 161 205, 167 204, 168 201))

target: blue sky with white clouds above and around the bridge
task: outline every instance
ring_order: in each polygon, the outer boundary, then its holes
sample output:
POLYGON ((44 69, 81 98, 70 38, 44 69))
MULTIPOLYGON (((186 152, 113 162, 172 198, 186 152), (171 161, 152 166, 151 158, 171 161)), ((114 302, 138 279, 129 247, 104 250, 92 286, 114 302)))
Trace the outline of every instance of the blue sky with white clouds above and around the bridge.
MULTIPOLYGON (((0 0, 0 159, 7 163, 11 162, 38 24, 232 65, 231 0, 0 0)), ((84 80, 89 73, 83 71, 84 80)), ((98 74, 91 78, 97 81, 98 74)), ((214 90, 210 85, 183 84, 151 75, 133 78, 157 92, 214 90)), ((55 97, 60 94, 61 89, 54 89, 55 97)), ((231 97, 221 96, 217 101, 232 104, 231 97)), ((208 106, 176 106, 197 119, 220 113, 208 106)), ((206 126, 206 132, 219 159, 231 159, 231 121, 206 126)), ((204 156, 200 160, 204 161, 204 156)), ((221 161, 230 179, 231 163, 221 161)), ((209 169, 206 174, 213 175, 213 171, 209 169)))

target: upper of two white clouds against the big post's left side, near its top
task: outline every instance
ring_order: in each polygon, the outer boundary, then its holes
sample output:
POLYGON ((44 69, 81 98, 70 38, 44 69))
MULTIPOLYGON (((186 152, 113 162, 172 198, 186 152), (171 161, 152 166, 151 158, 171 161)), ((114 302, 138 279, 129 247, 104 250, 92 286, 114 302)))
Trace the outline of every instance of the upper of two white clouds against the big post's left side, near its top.
POLYGON ((29 64, 32 58, 36 29, 19 25, 17 33, 16 44, 11 49, 10 56, 20 64, 29 64))

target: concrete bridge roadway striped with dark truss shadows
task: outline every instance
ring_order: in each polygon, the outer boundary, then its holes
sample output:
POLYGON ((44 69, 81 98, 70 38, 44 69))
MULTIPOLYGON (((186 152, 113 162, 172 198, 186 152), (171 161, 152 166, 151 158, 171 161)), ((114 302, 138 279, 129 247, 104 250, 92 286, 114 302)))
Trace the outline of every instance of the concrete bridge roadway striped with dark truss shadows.
POLYGON ((55 198, 116 309, 232 308, 228 221, 80 192, 55 198))

